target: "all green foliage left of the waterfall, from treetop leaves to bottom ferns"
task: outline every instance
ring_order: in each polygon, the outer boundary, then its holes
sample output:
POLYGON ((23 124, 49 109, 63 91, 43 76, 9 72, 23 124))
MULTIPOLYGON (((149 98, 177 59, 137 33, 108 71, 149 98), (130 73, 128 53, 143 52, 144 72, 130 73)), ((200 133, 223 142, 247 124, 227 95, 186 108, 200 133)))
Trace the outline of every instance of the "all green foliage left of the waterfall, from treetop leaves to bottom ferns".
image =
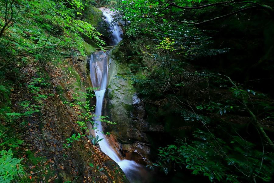
MULTIPOLYGON (((44 159, 37 158, 29 150, 22 155, 25 157, 27 154, 25 161, 18 156, 22 157, 19 153, 25 145, 20 133, 30 130, 31 123, 38 122, 33 121, 34 118, 43 118, 45 111, 41 109, 45 109, 48 98, 55 96, 49 93, 51 84, 44 72, 45 65, 56 66, 63 64, 65 57, 90 54, 86 48, 94 51, 93 47, 87 45, 84 38, 97 46, 104 44, 101 34, 80 16, 87 6, 85 2, 90 1, 0 0, 0 30, 5 24, 5 14, 8 19, 11 15, 16 17, 0 35, 0 182, 32 181, 21 181, 25 174, 21 163, 44 163, 44 159), (8 7, 8 12, 6 2, 14 2, 8 7), (31 79, 28 75, 35 77, 31 79), (20 88, 26 92, 18 93, 20 88)), ((70 103, 83 109, 77 121, 82 130, 87 129, 86 122, 92 121, 94 116, 91 113, 94 108, 90 107, 88 100, 79 102, 93 96, 89 90, 88 94, 79 93, 75 102, 70 103)), ((70 148, 82 136, 73 134, 66 139, 64 148, 70 148)), ((34 167, 33 171, 39 171, 40 166, 34 167)), ((44 180, 52 173, 48 170, 49 175, 44 180)))

